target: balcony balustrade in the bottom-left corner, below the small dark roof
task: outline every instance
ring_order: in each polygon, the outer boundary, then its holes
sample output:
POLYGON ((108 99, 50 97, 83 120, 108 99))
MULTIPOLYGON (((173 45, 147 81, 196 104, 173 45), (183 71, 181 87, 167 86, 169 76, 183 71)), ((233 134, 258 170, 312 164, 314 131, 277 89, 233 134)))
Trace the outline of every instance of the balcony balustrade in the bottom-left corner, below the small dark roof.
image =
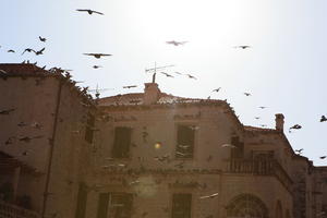
POLYGON ((13 204, 0 201, 0 217, 1 218, 40 218, 36 211, 24 209, 13 204))

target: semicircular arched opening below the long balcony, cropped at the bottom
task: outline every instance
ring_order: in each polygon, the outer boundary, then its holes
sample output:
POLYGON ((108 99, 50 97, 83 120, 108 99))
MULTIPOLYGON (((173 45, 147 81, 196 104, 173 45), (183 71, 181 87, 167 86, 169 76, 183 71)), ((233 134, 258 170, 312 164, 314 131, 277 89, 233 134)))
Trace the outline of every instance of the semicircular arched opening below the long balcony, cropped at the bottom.
POLYGON ((232 198, 227 206, 227 217, 268 218, 268 208, 255 195, 240 194, 232 198))

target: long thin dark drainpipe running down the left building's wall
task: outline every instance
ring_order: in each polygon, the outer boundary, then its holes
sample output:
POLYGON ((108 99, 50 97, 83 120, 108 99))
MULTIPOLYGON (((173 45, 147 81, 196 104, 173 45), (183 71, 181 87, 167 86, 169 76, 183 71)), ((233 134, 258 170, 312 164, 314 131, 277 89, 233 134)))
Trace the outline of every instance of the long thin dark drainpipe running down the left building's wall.
POLYGON ((45 213, 47 208, 47 202, 48 202, 48 190, 49 190, 49 183, 50 183, 50 174, 51 174, 51 166, 52 166, 52 156, 53 156, 53 148, 55 148, 55 138, 56 138, 56 132, 57 132, 57 124, 58 124, 58 113, 59 113, 59 107, 60 107, 60 100, 61 100, 61 89, 62 89, 62 81, 59 78, 59 86, 58 86, 58 93, 57 93, 57 104, 56 104, 56 111, 55 111, 55 121, 53 121, 53 131, 50 140, 50 150, 49 150, 49 158, 48 158, 48 166, 47 166, 47 177, 46 177, 46 185, 45 185, 45 192, 44 192, 44 203, 43 203, 43 210, 41 210, 41 218, 45 218, 45 213))

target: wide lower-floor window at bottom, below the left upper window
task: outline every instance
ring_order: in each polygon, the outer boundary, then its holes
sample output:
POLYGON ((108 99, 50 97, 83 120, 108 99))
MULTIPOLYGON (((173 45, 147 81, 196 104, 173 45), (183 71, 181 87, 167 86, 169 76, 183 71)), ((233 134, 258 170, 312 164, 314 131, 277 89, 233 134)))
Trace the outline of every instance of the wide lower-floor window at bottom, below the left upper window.
POLYGON ((97 218, 130 218, 132 201, 130 193, 100 193, 97 218))

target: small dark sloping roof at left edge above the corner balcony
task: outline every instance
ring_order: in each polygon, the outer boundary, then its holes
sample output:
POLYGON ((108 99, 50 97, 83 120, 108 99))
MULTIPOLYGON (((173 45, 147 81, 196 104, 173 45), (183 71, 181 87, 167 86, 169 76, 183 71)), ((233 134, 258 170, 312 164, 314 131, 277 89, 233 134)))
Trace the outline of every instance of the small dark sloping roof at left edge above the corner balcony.
POLYGON ((24 164, 23 161, 14 158, 11 155, 8 155, 4 152, 0 152, 0 172, 5 173, 5 172, 13 172, 13 170, 17 167, 21 167, 21 170, 23 172, 27 172, 31 174, 40 174, 35 168, 24 164))

